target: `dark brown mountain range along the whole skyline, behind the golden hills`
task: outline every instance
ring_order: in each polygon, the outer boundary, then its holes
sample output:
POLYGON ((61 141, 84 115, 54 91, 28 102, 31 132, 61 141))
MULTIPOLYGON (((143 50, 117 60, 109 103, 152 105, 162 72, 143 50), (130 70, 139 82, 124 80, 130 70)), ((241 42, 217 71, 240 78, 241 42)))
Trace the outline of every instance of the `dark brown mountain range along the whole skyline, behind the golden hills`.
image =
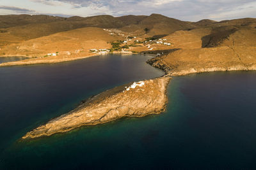
POLYGON ((211 47, 220 45, 223 39, 240 27, 256 27, 256 20, 255 18, 241 18, 215 22, 205 19, 198 22, 186 22, 159 14, 125 15, 122 17, 111 15, 74 16, 69 18, 49 15, 0 15, 0 45, 83 27, 113 28, 145 36, 168 35, 175 31, 191 31, 200 28, 200 31, 195 32, 207 35, 202 38, 204 41, 202 46, 211 47), (208 34, 209 31, 211 34, 208 34))

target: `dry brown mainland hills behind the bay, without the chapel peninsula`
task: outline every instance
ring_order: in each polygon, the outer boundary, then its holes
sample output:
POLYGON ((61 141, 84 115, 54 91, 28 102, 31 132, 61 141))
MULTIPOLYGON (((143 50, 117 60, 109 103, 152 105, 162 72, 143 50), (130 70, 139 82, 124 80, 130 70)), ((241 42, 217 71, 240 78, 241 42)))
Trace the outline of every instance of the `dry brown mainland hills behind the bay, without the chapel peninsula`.
MULTIPOLYGON (((110 41, 127 40, 126 43, 120 43, 120 48, 126 45, 125 50, 143 53, 162 53, 163 50, 164 55, 153 59, 151 63, 157 67, 166 66, 177 74, 180 70, 180 73, 186 70, 182 73, 186 74, 246 70, 255 66, 255 18, 221 22, 184 22, 158 14, 46 17, 45 20, 44 16, 31 16, 29 20, 29 16, 22 15, 20 18, 24 19, 17 26, 0 29, 0 55, 34 56, 37 57, 33 59, 36 63, 42 60, 59 62, 92 55, 88 53, 90 48, 111 48, 110 41), (150 41, 152 37, 157 38, 150 41), (160 38, 164 39, 161 43, 160 38), (43 57, 56 52, 58 56, 43 57)), ((3 21, 1 17, 0 21, 3 21)))

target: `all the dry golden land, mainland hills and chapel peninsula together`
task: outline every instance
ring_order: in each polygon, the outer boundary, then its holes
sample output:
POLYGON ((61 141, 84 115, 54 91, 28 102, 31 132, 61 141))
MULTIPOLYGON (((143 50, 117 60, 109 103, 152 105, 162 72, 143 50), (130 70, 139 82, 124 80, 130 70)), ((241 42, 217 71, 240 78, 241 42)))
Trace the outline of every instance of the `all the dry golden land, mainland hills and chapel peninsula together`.
POLYGON ((170 76, 256 70, 256 18, 184 22, 152 14, 35 19, 38 23, 32 24, 27 19, 19 23, 0 18, 6 23, 0 27, 0 56, 31 57, 0 66, 64 62, 107 52, 143 53, 154 55, 147 63, 165 71, 166 76, 102 92, 23 138, 161 113, 168 101, 165 93, 170 76))

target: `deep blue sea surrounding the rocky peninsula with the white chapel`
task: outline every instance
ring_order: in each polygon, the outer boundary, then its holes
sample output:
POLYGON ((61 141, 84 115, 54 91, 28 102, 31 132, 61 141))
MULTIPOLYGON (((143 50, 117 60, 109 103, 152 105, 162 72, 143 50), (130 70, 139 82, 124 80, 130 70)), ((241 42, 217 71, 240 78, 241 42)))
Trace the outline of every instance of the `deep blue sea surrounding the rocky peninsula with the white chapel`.
POLYGON ((175 77, 165 113, 20 141, 79 101, 161 76, 141 55, 0 67, 0 169, 255 169, 256 73, 175 77))

